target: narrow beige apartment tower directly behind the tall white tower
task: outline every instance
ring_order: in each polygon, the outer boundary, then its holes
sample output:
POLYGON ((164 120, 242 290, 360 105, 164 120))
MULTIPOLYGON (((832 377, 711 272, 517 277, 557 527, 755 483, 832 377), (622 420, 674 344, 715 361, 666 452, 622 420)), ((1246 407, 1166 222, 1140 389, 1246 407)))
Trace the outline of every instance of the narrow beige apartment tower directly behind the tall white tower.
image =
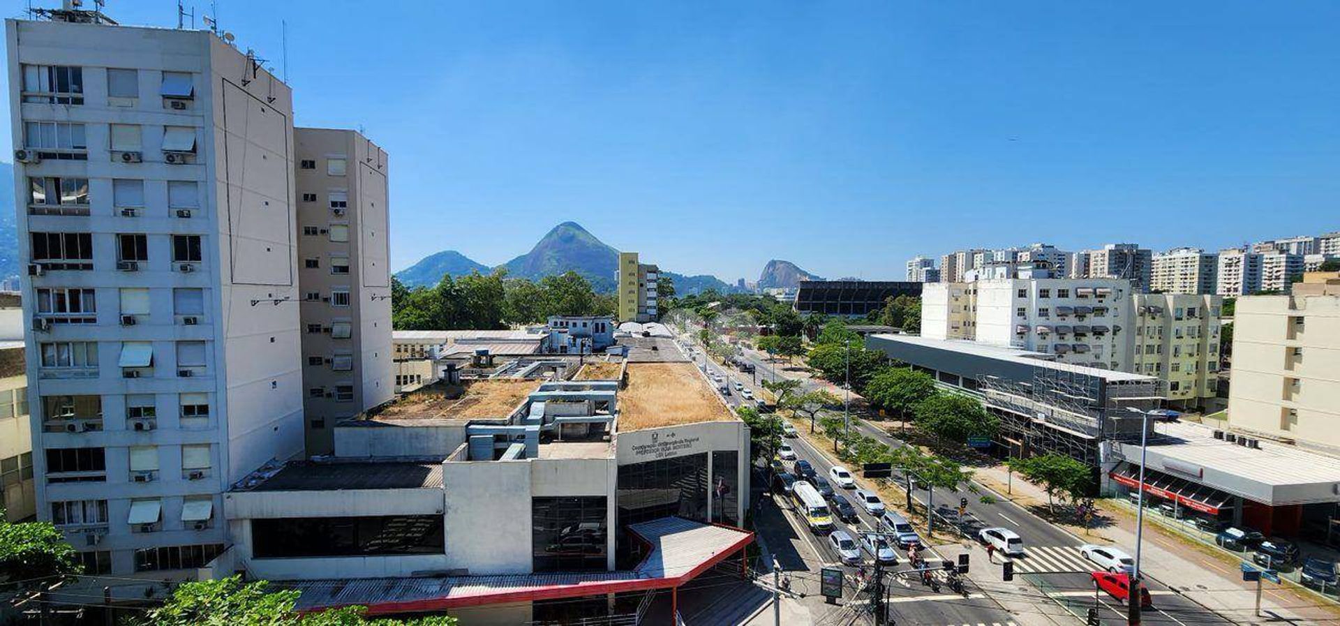
POLYGON ((335 422, 395 394, 389 165, 354 130, 299 127, 293 138, 307 453, 328 454, 335 422))

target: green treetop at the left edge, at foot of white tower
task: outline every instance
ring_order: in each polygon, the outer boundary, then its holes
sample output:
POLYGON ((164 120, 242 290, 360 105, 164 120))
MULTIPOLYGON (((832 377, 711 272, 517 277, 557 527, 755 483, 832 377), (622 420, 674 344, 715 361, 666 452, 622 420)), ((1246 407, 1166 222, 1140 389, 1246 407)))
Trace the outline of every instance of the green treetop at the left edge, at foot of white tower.
POLYGON ((79 574, 79 554, 48 521, 4 521, 0 511, 0 590, 50 587, 79 574), (13 583, 7 584, 7 580, 13 583))

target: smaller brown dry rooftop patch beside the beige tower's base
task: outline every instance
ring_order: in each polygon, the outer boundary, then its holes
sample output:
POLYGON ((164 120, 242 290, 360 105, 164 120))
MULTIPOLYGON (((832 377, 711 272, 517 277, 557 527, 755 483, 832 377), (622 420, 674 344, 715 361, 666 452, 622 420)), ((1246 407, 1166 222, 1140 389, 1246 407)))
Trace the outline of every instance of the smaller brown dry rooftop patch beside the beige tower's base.
POLYGON ((539 381, 466 381, 429 385, 397 399, 378 420, 477 420, 507 417, 540 387, 539 381))

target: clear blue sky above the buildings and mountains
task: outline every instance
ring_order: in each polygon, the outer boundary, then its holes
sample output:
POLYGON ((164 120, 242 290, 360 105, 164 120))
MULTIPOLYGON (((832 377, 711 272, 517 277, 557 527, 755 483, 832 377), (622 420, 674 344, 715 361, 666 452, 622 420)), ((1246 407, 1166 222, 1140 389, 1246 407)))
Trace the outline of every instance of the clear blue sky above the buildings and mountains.
MULTIPOLYGON (((176 23, 174 0, 109 4, 176 23)), ((564 220, 726 280, 772 257, 875 279, 963 247, 1340 229, 1335 1, 218 13, 276 68, 287 20, 296 122, 390 151, 395 268, 446 248, 503 263, 564 220)))

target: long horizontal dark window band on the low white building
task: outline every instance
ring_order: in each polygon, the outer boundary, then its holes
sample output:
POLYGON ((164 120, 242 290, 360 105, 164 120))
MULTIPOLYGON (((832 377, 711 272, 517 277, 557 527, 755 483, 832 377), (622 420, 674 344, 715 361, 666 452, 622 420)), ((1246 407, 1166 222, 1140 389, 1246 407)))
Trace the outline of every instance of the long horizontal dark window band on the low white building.
POLYGON ((441 515, 255 519, 257 559, 444 554, 441 515))

